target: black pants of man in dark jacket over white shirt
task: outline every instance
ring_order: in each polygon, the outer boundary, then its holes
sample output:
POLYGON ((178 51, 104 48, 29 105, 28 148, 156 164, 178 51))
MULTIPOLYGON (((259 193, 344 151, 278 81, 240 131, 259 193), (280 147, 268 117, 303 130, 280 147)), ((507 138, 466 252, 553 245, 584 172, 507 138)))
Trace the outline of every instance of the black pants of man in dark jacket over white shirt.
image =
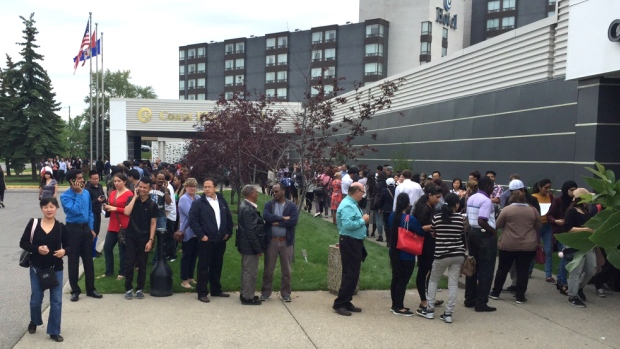
POLYGON ((222 266, 224 264, 224 252, 226 252, 226 242, 200 241, 198 250, 198 272, 196 280, 196 292, 198 298, 209 294, 222 293, 222 266))

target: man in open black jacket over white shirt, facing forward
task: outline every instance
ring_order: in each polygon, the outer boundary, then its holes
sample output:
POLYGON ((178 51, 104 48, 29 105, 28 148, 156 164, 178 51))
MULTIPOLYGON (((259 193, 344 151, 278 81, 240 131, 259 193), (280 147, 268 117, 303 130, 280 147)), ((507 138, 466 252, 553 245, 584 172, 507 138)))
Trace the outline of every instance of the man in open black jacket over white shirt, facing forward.
POLYGON ((204 303, 209 302, 207 283, 211 285, 211 296, 230 296, 222 292, 220 278, 226 242, 232 236, 232 214, 224 197, 215 192, 216 187, 214 179, 205 179, 204 194, 189 210, 189 225, 200 241, 196 292, 204 303))

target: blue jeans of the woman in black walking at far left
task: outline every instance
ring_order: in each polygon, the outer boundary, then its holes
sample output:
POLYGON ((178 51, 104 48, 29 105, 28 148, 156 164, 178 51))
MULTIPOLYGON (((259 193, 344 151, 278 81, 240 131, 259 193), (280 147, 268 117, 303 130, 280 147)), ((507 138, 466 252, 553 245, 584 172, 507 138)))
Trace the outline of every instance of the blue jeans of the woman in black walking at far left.
MULTIPOLYGON (((39 286, 39 279, 30 267, 30 321, 37 326, 43 325, 41 316, 41 304, 43 303, 43 291, 39 286)), ((50 288, 50 314, 47 319, 47 334, 60 334, 60 315, 62 313, 62 270, 56 272, 58 286, 50 288)))

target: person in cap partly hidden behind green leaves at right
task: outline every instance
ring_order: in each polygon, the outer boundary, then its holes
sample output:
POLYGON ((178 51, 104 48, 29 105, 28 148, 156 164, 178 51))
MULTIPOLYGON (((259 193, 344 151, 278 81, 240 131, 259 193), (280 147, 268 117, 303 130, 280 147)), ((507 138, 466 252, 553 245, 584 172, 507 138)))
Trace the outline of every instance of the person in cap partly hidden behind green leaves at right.
MULTIPOLYGON (((566 216, 564 217, 564 232, 592 233, 593 230, 585 226, 586 222, 591 218, 590 209, 584 202, 583 197, 590 192, 585 188, 577 188, 573 191, 573 202, 568 206, 566 216)), ((568 248, 568 246, 566 246, 568 248)), ((581 262, 569 273, 568 276, 568 303, 578 308, 585 308, 586 295, 583 293, 583 287, 588 284, 590 279, 596 273, 596 253, 594 249, 588 251, 581 262), (581 274, 583 279, 580 280, 581 274)))

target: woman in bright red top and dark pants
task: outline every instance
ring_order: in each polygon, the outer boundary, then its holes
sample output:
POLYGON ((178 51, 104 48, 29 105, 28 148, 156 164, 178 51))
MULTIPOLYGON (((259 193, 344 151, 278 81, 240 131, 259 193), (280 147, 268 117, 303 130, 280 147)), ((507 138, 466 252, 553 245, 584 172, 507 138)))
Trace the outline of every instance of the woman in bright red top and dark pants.
POLYGON ((133 196, 133 193, 127 189, 127 176, 123 173, 117 173, 113 177, 114 188, 110 193, 108 203, 103 205, 103 209, 110 213, 110 223, 108 224, 108 233, 103 244, 103 254, 105 257, 105 274, 101 277, 110 277, 114 275, 114 246, 118 243, 119 271, 118 280, 122 280, 125 274, 125 244, 119 241, 119 231, 121 227, 127 229, 129 224, 129 216, 125 215, 125 206, 127 200, 133 196))

